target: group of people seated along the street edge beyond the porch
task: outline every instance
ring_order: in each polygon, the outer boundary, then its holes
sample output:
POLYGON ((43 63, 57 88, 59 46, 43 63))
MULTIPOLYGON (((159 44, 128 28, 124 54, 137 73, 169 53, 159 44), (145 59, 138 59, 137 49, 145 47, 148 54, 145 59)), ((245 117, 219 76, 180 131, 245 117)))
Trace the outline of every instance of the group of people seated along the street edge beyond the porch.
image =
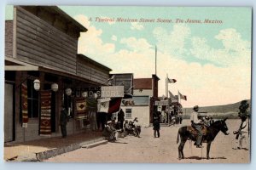
POLYGON ((137 117, 133 121, 125 120, 125 114, 122 109, 118 113, 118 120, 113 117, 108 121, 103 129, 102 135, 108 141, 114 142, 119 137, 125 137, 129 134, 140 138, 141 126, 138 123, 137 117))

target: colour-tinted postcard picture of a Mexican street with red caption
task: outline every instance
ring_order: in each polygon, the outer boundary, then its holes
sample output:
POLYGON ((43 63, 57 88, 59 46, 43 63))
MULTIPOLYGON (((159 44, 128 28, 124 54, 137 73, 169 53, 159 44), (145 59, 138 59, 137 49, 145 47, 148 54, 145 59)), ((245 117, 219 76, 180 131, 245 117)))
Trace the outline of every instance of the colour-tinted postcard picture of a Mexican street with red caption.
POLYGON ((7 163, 250 163, 252 8, 5 14, 7 163))

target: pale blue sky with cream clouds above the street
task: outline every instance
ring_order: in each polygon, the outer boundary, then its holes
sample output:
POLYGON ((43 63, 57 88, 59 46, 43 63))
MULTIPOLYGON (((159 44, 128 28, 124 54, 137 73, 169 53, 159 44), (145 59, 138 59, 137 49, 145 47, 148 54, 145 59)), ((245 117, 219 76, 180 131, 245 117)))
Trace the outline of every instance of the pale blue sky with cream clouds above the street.
POLYGON ((168 84, 172 94, 187 96, 183 107, 251 98, 252 8, 59 8, 88 29, 80 34, 78 53, 111 73, 149 78, 156 64, 159 96, 166 95, 168 75, 177 80, 168 84))

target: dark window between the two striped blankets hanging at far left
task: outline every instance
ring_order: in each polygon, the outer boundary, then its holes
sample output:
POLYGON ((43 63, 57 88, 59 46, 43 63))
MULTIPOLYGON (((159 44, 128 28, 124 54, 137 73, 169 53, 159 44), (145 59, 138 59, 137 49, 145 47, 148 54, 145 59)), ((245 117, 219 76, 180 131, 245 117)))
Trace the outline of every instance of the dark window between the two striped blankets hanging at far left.
POLYGON ((29 118, 37 118, 39 112, 38 92, 33 85, 33 80, 27 80, 27 114, 29 118))

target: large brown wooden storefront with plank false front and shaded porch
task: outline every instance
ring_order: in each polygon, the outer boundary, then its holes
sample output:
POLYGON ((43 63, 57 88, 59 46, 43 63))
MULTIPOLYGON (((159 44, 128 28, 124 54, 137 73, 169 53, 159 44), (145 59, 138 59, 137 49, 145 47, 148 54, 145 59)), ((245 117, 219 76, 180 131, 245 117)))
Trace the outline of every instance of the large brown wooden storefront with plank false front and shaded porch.
MULTIPOLYGON (((15 6, 13 20, 5 22, 5 94, 4 141, 41 139, 42 99, 50 92, 50 135, 60 136, 61 105, 70 112, 67 134, 83 129, 75 119, 74 99, 83 92, 100 95, 100 86, 109 78, 108 67, 77 54, 80 32, 87 31, 79 22, 53 6, 15 6), (36 91, 34 81, 40 81, 36 91), (22 92, 21 86, 26 86, 22 92), (71 89, 71 95, 66 89, 71 89), (28 122, 22 127, 22 95, 27 98, 28 122)), ((23 112, 22 112, 23 111, 23 112)))

